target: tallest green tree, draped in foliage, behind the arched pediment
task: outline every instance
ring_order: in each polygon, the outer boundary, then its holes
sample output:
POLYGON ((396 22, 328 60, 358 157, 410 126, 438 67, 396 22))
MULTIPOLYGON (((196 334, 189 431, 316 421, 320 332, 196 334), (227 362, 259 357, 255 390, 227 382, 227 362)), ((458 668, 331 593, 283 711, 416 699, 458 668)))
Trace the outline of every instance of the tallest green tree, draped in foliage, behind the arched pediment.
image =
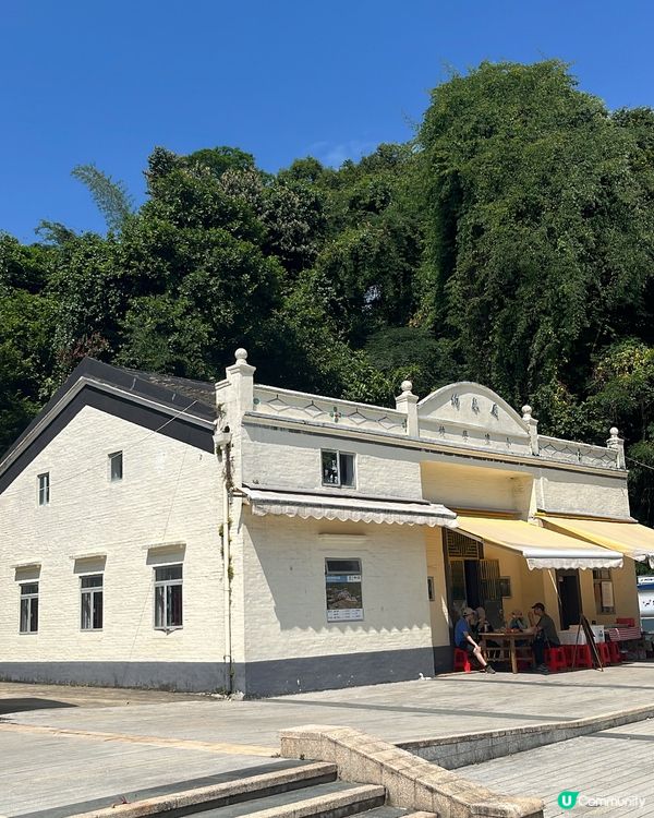
POLYGON ((433 92, 420 143, 423 321, 513 401, 583 381, 651 279, 632 129, 564 63, 482 63, 433 92))

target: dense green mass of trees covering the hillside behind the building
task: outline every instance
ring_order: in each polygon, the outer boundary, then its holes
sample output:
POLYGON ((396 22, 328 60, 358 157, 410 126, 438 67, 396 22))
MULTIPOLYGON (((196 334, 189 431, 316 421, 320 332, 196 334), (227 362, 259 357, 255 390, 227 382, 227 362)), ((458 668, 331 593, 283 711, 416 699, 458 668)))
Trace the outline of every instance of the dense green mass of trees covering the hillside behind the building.
POLYGON ((74 169, 107 236, 0 234, 0 448, 86 354, 387 402, 462 377, 546 432, 619 426, 654 521, 654 112, 608 111, 558 61, 483 63, 415 140, 276 175, 155 148, 148 196, 74 169))

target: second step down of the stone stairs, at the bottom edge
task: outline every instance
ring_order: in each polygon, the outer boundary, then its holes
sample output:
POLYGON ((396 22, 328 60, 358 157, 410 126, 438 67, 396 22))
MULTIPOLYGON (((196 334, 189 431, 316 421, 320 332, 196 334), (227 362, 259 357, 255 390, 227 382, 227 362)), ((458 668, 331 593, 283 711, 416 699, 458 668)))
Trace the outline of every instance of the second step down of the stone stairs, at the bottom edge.
MULTIPOLYGON (((304 786, 301 790, 274 793, 263 798, 255 797, 239 804, 194 810, 193 815, 203 818, 343 818, 349 815, 371 815, 373 809, 384 806, 385 799, 386 790, 383 786, 331 781, 304 786)), ((387 818, 405 814, 405 810, 391 811, 387 818)), ((189 813, 175 811, 175 818, 178 815, 189 813)))

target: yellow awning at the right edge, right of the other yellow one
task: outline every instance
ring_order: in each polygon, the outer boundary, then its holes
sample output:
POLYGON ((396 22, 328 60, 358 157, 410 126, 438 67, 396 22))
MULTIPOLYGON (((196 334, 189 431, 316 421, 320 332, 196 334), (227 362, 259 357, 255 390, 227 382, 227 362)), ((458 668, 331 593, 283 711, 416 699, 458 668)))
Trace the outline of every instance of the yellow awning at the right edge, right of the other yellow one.
POLYGON ((572 534, 594 542, 638 562, 650 561, 654 567, 654 530, 638 522, 620 520, 585 520, 577 517, 538 515, 553 532, 572 534))

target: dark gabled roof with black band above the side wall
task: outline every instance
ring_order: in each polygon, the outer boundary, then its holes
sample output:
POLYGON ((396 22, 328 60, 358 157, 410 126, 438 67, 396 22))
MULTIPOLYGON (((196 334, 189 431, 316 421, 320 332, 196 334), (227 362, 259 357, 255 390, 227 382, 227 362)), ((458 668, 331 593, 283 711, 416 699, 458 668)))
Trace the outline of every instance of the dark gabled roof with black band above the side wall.
POLYGON ((213 452, 215 385, 85 358, 0 460, 0 492, 84 407, 213 452))

